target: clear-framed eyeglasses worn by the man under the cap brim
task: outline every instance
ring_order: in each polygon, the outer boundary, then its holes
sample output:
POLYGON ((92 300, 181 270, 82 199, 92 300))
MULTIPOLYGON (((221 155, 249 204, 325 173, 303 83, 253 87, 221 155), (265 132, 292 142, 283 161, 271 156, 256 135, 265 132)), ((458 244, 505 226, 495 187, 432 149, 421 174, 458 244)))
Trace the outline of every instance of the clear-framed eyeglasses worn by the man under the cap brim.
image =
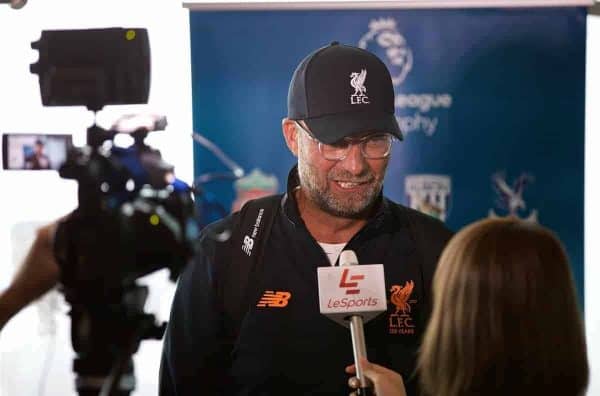
POLYGON ((319 152, 326 160, 341 161, 348 156, 350 147, 353 144, 360 145, 362 155, 367 159, 383 159, 387 158, 392 151, 392 141, 394 138, 389 133, 377 133, 367 135, 359 139, 344 138, 333 144, 320 142, 306 128, 295 121, 298 128, 303 130, 310 140, 318 144, 319 152))

